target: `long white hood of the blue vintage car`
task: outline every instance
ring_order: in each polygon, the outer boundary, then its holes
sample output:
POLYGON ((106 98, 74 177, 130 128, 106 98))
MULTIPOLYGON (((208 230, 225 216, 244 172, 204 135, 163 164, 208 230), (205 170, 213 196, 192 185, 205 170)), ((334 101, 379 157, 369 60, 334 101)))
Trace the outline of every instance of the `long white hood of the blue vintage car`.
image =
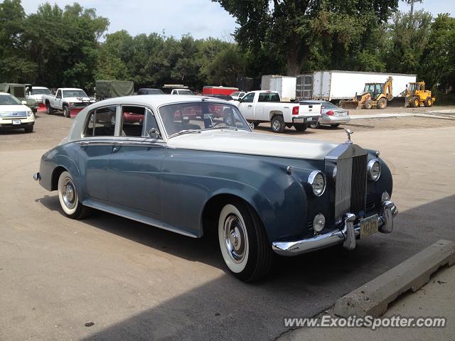
POLYGON ((250 131, 208 130, 200 134, 174 136, 168 140, 168 146, 200 151, 323 160, 338 144, 250 131))

